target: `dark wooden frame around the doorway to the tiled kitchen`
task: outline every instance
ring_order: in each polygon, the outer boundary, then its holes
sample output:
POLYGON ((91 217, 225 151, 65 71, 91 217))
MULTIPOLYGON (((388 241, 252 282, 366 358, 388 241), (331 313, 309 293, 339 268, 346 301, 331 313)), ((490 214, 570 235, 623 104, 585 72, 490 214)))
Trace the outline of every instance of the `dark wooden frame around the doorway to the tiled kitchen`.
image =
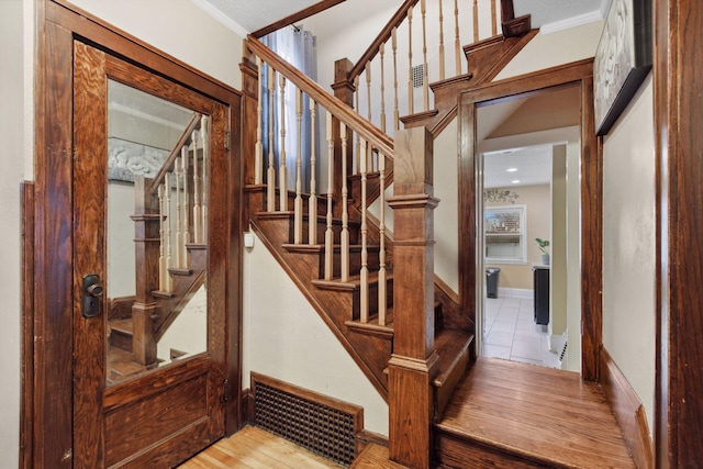
MULTIPOLYGON (((477 108, 524 98, 547 88, 576 85, 581 94, 581 376, 598 381, 602 344, 603 165, 593 118, 593 59, 490 82, 459 97, 459 299, 462 311, 477 308, 477 108)), ((473 317, 477 327, 480 326, 473 317)))

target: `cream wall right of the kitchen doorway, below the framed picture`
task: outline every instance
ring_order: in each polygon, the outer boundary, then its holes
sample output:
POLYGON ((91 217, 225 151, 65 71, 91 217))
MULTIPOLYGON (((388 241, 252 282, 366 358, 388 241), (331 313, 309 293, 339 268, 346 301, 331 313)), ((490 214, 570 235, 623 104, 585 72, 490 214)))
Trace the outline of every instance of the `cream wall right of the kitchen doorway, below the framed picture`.
POLYGON ((651 74, 603 144, 603 345, 654 429, 655 142, 651 74))

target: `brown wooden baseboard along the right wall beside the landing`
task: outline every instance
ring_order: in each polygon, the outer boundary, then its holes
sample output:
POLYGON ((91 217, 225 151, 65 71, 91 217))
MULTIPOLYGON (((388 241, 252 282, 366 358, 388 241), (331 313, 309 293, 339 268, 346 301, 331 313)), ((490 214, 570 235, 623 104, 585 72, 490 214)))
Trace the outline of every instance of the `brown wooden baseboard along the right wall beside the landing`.
POLYGON ((645 406, 605 347, 600 353, 601 386, 638 468, 654 469, 654 446, 645 406))

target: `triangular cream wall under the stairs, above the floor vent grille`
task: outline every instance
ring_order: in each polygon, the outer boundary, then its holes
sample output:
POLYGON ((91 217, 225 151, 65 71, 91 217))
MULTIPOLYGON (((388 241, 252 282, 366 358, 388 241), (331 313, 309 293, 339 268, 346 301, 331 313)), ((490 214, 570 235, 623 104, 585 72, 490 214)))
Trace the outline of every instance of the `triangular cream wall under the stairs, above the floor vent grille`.
POLYGON ((244 271, 244 388, 256 371, 361 405, 388 435, 388 405, 258 237, 244 271))

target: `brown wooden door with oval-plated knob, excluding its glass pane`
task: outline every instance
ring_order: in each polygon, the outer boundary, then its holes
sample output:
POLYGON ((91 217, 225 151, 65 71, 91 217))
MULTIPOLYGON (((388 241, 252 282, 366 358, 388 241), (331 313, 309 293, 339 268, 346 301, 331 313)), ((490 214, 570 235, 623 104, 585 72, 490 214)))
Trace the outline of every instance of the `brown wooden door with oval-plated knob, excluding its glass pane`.
POLYGON ((74 467, 170 466, 224 434, 221 261, 228 158, 225 107, 81 42, 74 56, 74 467), (107 90, 114 79, 212 116, 208 353, 105 389, 105 299, 81 314, 81 279, 105 280, 107 90))

